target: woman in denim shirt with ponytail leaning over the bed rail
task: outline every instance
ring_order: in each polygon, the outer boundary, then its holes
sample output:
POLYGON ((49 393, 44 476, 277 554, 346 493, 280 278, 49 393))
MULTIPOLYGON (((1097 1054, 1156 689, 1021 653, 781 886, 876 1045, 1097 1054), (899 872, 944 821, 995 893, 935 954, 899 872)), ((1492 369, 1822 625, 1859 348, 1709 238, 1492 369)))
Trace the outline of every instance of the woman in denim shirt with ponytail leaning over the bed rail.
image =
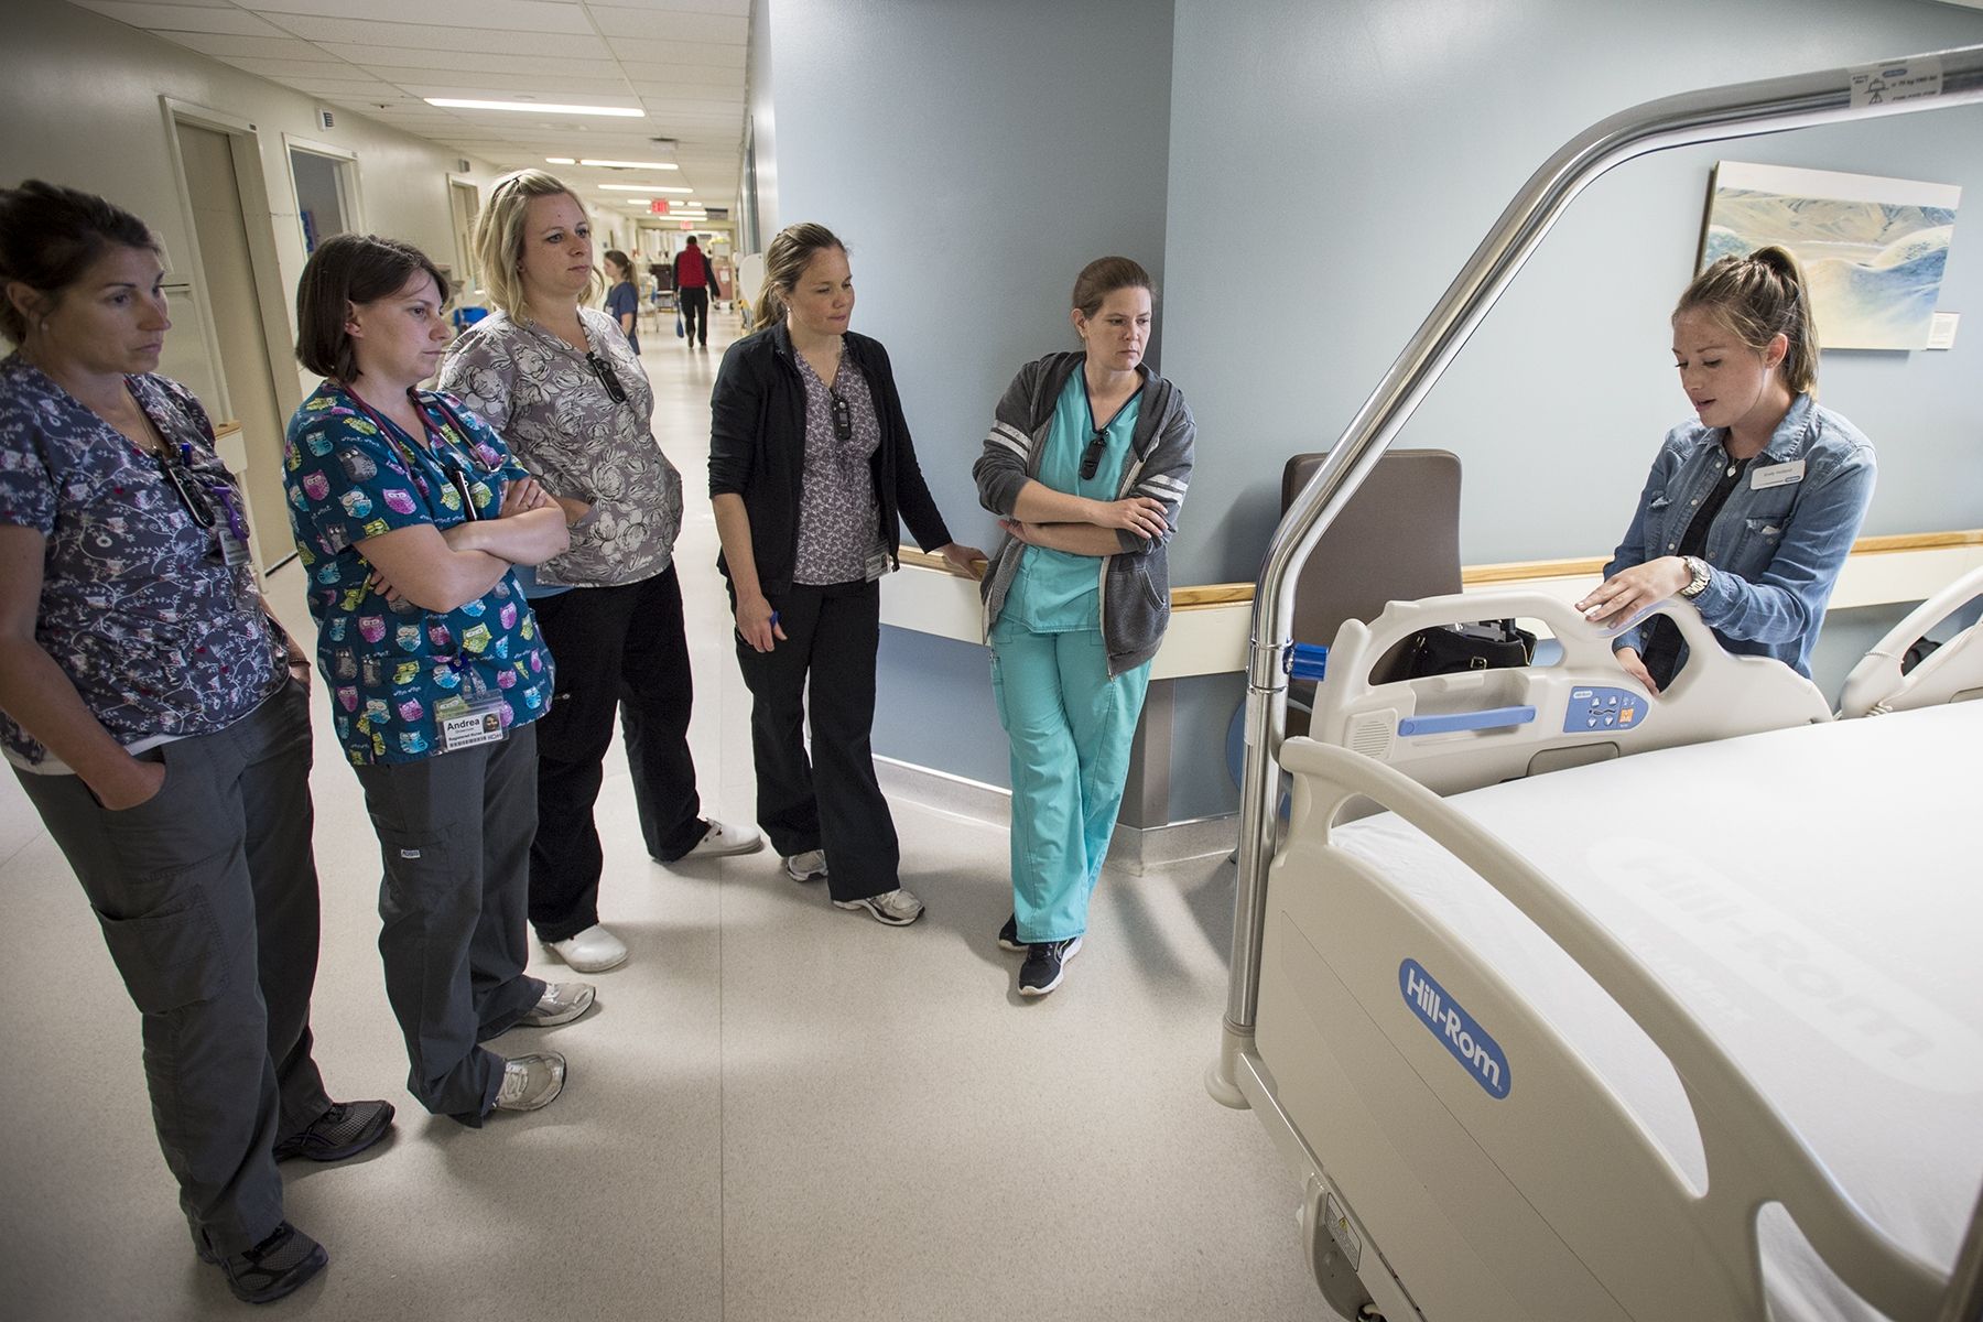
MULTIPOLYGON (((1680 595, 1729 652, 1810 676, 1824 603, 1872 499, 1872 442, 1816 402, 1810 293, 1783 248, 1721 258, 1674 309, 1674 365, 1699 414, 1666 434, 1604 583, 1576 603, 1616 624, 1680 595)), ((1648 690, 1686 660, 1654 618, 1612 644, 1648 690)))

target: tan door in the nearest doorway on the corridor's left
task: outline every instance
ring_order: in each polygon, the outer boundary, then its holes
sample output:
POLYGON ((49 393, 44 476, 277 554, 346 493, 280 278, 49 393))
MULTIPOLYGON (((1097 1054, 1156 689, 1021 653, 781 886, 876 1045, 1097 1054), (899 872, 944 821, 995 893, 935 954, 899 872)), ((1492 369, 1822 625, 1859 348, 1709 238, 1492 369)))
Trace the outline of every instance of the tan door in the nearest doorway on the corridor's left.
POLYGON ((184 121, 175 127, 178 157, 186 170, 186 196, 192 200, 192 238, 200 248, 200 272, 206 275, 206 303, 214 315, 214 337, 220 341, 220 381, 234 416, 218 416, 220 400, 200 402, 214 414, 216 424, 222 420, 242 424, 248 464, 236 478, 248 497, 256 565, 266 573, 295 547, 282 492, 284 416, 276 402, 268 339, 262 335, 262 301, 248 252, 242 190, 234 178, 234 151, 226 133, 184 121))

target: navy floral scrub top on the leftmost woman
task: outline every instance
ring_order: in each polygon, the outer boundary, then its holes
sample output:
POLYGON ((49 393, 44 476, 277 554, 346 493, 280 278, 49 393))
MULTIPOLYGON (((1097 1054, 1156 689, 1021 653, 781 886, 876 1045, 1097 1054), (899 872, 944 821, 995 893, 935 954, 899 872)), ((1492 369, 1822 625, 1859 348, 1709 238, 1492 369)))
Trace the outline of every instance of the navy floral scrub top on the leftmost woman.
MULTIPOLYGON (((254 565, 230 567, 200 521, 224 517, 220 492, 242 509, 206 410, 165 377, 127 385, 176 452, 176 486, 18 353, 0 363, 0 523, 48 541, 34 638, 111 737, 135 747, 254 712, 282 690, 284 642, 254 565)), ((6 714, 0 745, 26 771, 67 771, 6 714)))

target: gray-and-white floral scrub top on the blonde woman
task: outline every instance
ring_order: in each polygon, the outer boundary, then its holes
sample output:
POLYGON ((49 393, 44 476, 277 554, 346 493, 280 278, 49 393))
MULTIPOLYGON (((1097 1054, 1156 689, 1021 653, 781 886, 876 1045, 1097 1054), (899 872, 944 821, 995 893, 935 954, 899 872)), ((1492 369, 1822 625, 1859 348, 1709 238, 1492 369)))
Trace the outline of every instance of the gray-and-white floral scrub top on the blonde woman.
POLYGON ((613 321, 581 307, 591 355, 496 311, 462 331, 440 386, 462 396, 551 496, 583 499, 571 549, 537 565, 545 587, 617 587, 662 573, 682 531, 682 474, 648 426, 654 392, 613 321), (625 400, 587 357, 611 373, 625 400))

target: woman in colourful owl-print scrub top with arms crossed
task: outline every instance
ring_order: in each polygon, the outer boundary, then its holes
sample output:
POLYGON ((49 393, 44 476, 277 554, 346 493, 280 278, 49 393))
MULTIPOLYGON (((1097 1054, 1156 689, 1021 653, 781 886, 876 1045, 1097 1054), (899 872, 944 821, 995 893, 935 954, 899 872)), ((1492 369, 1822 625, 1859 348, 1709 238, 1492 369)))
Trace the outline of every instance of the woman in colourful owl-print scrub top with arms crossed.
POLYGON ((563 551, 565 515, 482 418, 418 388, 448 343, 446 297, 410 244, 337 234, 311 254, 295 357, 325 381, 290 418, 284 486, 331 721, 385 860, 407 1090, 480 1126, 565 1086, 561 1054, 480 1043, 569 1023, 593 989, 524 973, 551 658, 512 565, 563 551))

